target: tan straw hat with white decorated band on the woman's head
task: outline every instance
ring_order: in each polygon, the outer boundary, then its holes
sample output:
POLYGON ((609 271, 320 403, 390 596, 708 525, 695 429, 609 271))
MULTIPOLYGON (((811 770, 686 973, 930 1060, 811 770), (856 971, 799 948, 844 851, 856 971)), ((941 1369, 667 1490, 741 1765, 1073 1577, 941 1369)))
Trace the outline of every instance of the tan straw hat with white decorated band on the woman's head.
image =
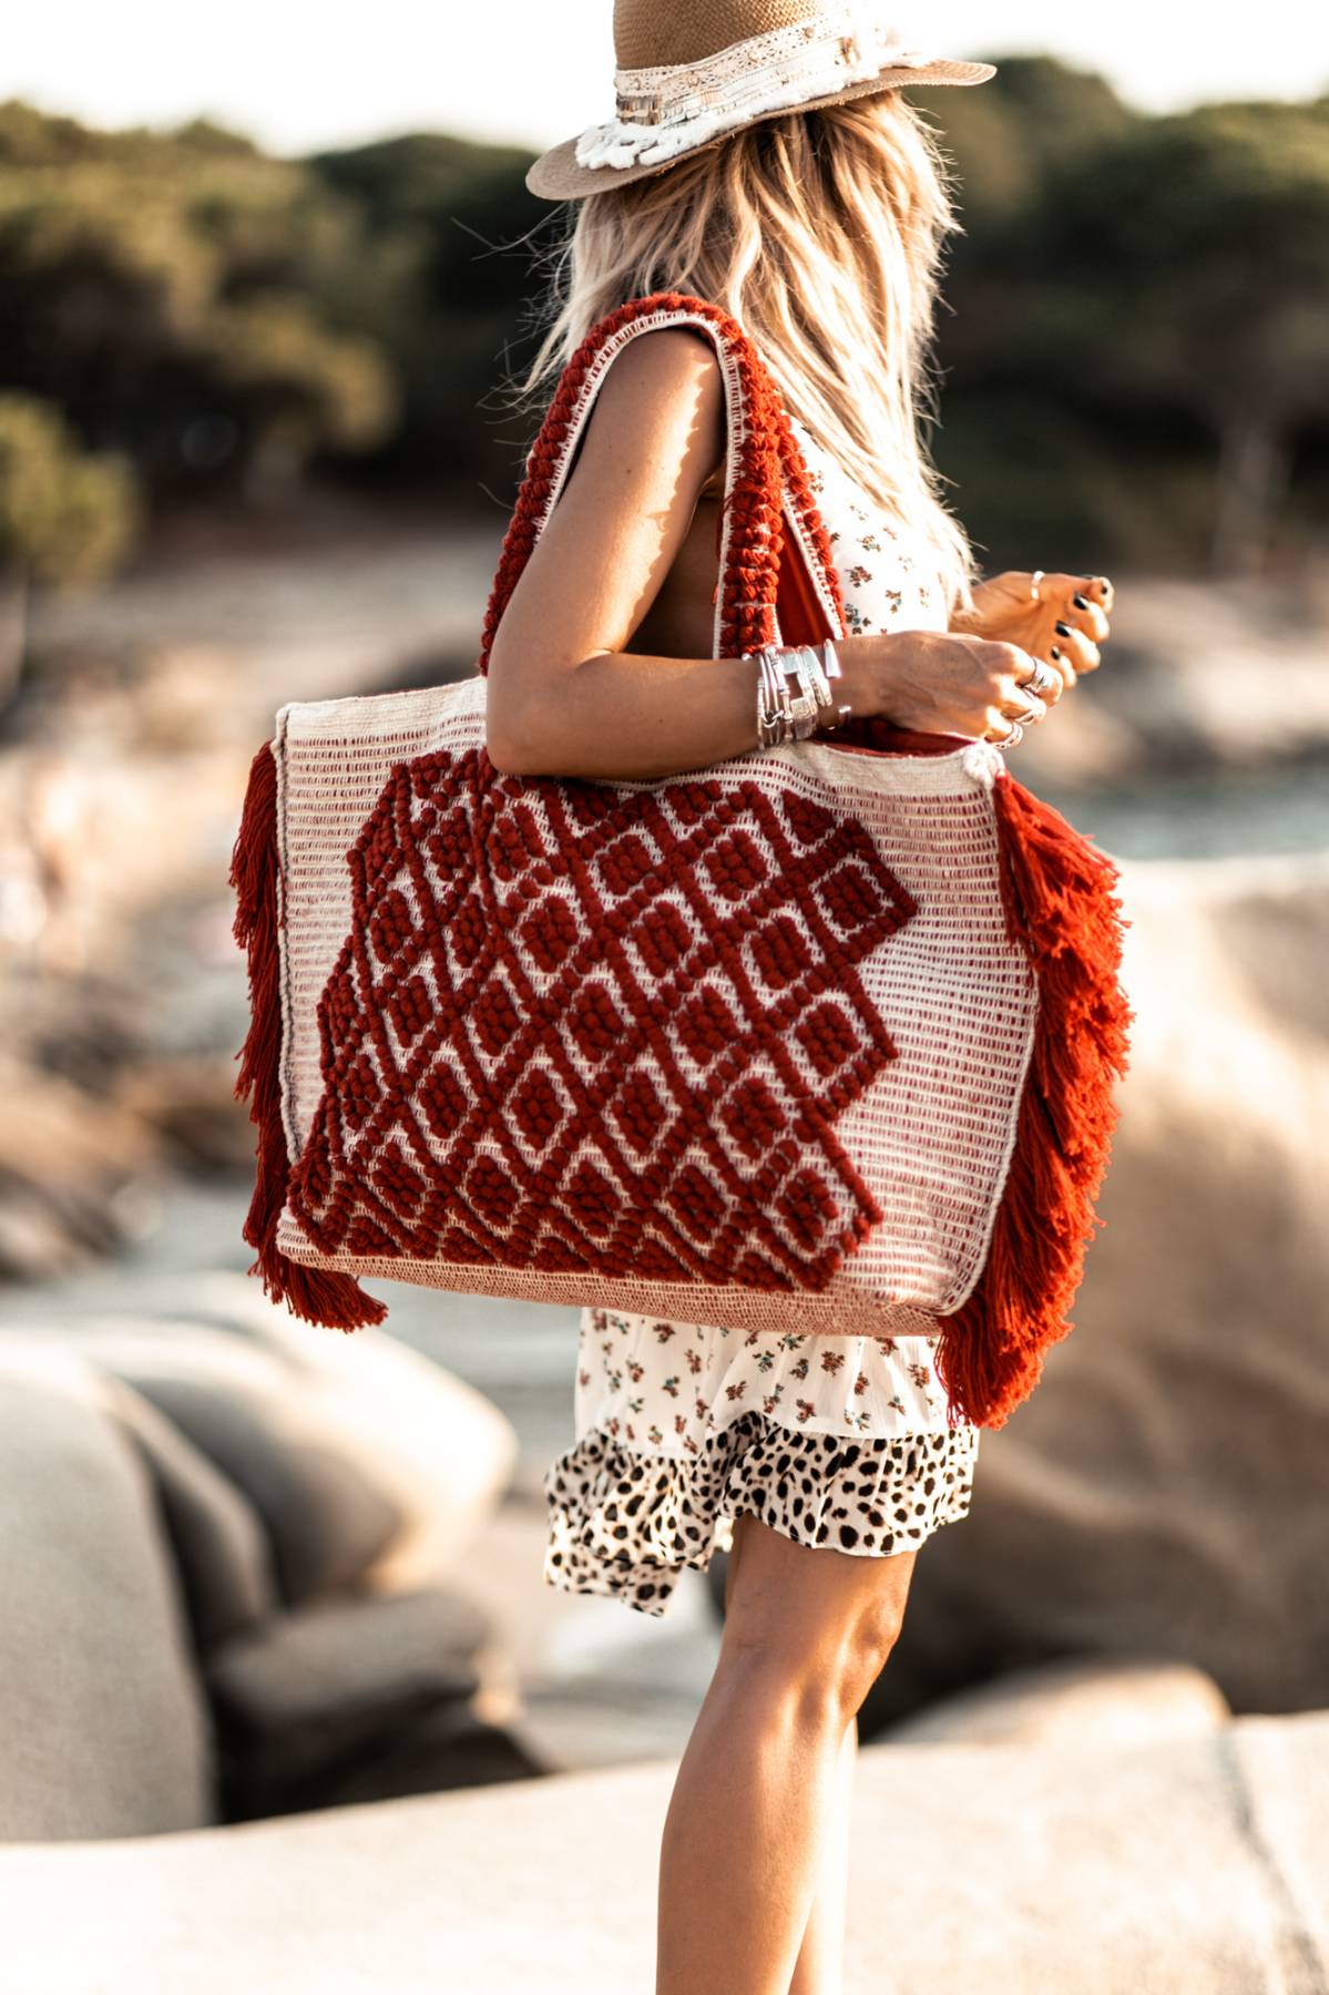
POLYGON ((876 0, 615 0, 615 116, 543 154, 531 194, 575 201, 780 112, 996 76, 912 48, 876 0))

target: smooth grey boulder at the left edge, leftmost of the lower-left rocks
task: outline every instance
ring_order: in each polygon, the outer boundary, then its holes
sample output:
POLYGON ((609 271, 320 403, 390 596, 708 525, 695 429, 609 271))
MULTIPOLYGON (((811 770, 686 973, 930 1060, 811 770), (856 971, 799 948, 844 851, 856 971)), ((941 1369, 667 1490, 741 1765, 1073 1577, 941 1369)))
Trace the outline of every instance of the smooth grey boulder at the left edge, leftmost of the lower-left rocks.
POLYGON ((152 1478, 92 1367, 4 1337, 0 1841, 216 1821, 210 1758, 152 1478))

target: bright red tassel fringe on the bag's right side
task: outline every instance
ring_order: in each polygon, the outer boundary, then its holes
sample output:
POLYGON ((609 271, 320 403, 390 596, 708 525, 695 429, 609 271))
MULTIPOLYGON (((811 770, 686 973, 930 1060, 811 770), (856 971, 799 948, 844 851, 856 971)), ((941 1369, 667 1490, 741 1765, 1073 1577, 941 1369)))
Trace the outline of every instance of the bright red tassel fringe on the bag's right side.
POLYGON ((1072 1329, 1131 1021, 1115 866, 1012 776, 998 776, 994 802, 1006 932, 1038 978, 1038 1021, 984 1273, 962 1309, 938 1317, 948 1416, 978 1426, 1006 1424, 1072 1329))

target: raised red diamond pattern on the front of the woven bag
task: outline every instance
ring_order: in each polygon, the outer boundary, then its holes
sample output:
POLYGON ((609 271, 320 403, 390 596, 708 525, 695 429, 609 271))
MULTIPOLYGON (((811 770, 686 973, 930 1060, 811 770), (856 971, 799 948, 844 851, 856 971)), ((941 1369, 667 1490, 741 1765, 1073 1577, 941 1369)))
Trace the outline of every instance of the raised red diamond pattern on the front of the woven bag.
POLYGON ((349 852, 291 1209, 323 1253, 824 1289, 882 1217, 836 1121, 914 902, 794 788, 393 770, 349 852))

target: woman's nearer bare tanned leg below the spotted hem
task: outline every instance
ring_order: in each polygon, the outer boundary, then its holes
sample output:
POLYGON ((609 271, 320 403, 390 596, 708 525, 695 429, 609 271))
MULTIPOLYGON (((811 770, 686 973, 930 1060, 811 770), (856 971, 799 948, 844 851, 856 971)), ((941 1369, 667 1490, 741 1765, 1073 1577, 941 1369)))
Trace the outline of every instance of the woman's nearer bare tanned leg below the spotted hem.
MULTIPOLYGON (((720 1658, 664 1817, 657 1995, 790 1995, 842 1811, 846 1730, 894 1646, 916 1556, 814 1550, 734 1520, 720 1658)), ((820 1929, 810 1945, 826 1949, 820 1929)), ((822 1987, 804 1979, 798 1995, 822 1987)))

